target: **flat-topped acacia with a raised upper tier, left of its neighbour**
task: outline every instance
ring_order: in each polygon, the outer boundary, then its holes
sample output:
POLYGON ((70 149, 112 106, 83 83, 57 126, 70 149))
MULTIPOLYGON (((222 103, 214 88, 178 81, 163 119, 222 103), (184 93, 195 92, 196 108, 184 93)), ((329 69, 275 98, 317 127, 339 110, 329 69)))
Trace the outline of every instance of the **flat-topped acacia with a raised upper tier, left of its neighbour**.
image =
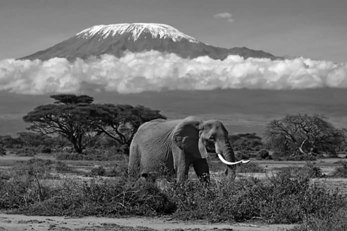
POLYGON ((23 116, 29 130, 40 134, 59 134, 69 140, 78 153, 96 138, 95 119, 91 116, 90 96, 52 95, 54 104, 38 106, 23 116))

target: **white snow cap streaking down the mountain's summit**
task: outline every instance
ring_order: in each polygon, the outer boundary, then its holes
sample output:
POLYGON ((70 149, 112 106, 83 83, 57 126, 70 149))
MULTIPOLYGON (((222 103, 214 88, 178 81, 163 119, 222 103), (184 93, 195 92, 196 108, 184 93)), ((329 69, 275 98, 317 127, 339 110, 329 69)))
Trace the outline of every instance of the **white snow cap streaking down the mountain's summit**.
POLYGON ((193 37, 190 37, 176 28, 159 23, 120 23, 110 25, 95 25, 82 30, 78 37, 89 38, 94 35, 100 35, 102 38, 108 36, 116 36, 123 33, 132 33, 134 40, 137 40, 143 32, 149 32, 153 38, 171 38, 173 41, 179 41, 182 38, 187 39, 189 42, 199 42, 193 37))

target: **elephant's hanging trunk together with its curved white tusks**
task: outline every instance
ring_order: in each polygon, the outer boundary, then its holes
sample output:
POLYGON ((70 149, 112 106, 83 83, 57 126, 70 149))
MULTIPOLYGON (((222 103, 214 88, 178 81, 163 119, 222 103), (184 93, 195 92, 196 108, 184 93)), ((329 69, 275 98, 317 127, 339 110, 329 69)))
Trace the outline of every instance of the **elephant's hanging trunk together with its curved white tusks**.
POLYGON ((249 160, 235 161, 234 150, 232 149, 228 141, 217 141, 215 143, 216 153, 219 159, 227 165, 225 169, 225 174, 228 175, 228 171, 231 171, 231 175, 235 176, 236 164, 238 163, 248 163, 249 160))

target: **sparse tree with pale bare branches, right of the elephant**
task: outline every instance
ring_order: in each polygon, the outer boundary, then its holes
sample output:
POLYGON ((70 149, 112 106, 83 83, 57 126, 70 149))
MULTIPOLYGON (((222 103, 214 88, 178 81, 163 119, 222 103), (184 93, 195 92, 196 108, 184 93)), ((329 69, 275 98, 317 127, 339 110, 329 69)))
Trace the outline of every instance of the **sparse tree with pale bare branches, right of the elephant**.
POLYGON ((345 145, 345 132, 335 128, 323 115, 287 115, 266 127, 267 144, 284 152, 335 153, 345 145))

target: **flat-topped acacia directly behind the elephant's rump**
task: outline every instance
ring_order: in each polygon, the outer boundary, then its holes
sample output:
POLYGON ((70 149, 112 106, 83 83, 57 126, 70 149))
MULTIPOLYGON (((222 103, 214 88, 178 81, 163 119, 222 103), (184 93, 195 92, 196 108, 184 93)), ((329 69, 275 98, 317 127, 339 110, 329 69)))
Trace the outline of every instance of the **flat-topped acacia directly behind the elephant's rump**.
POLYGON ((98 121, 97 130, 128 147, 142 123, 156 118, 167 118, 159 110, 152 110, 141 105, 133 107, 126 104, 99 104, 93 105, 93 108, 92 115, 98 121))

